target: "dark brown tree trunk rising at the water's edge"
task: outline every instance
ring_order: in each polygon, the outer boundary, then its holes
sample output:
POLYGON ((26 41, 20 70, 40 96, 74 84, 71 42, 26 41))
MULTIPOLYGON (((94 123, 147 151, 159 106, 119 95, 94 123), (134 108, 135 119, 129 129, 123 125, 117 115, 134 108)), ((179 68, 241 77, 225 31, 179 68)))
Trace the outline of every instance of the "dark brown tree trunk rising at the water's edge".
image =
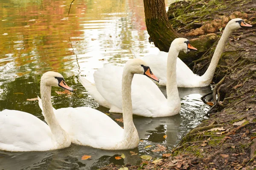
POLYGON ((160 51, 169 51, 175 38, 184 37, 177 33, 167 18, 164 0, 143 0, 148 34, 160 51))

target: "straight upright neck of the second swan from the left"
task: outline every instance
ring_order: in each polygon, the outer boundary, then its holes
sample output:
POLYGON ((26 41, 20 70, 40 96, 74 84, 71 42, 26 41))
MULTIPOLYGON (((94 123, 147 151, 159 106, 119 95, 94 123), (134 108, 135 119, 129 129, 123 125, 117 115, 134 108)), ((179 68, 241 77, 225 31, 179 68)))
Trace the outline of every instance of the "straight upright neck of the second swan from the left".
MULTIPOLYGON (((122 75, 122 112, 124 121, 124 136, 125 138, 134 130, 134 122, 132 117, 132 102, 131 102, 131 82, 134 74, 124 68, 122 75)), ((136 128, 135 128, 136 130, 136 128)))

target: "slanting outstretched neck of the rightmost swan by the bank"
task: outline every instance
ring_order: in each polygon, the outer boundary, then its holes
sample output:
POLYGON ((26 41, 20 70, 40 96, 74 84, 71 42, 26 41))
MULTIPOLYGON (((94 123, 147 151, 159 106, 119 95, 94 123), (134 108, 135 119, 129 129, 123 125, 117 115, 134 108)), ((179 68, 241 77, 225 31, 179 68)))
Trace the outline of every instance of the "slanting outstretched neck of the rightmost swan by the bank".
POLYGON ((226 26, 217 46, 215 48, 211 63, 209 65, 209 67, 207 68, 207 71, 202 76, 204 79, 209 81, 209 84, 212 82, 212 78, 214 76, 215 69, 218 65, 218 61, 219 61, 221 54, 225 48, 225 44, 226 44, 228 38, 230 37, 230 35, 232 34, 232 32, 233 31, 230 30, 229 26, 226 26))

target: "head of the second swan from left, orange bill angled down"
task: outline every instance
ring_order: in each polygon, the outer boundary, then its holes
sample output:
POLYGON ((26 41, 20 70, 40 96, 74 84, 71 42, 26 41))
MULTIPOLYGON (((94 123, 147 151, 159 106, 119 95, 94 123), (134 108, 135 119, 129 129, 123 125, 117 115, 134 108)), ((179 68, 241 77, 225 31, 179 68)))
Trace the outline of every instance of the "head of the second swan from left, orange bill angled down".
POLYGON ((159 79, 152 73, 148 64, 142 59, 130 59, 125 64, 125 69, 128 69, 131 74, 143 74, 157 82, 159 79))

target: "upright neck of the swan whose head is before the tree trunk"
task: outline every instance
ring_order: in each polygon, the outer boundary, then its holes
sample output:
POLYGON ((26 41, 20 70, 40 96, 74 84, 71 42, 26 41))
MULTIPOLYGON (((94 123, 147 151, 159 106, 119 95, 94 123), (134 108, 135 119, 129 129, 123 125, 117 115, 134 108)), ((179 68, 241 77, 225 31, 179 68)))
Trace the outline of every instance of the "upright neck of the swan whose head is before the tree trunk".
POLYGON ((169 105, 173 105, 173 102, 180 102, 179 92, 177 88, 177 79, 176 79, 176 63, 179 51, 175 48, 174 45, 171 45, 168 58, 167 58, 167 81, 166 81, 166 93, 167 93, 167 102, 169 105))

